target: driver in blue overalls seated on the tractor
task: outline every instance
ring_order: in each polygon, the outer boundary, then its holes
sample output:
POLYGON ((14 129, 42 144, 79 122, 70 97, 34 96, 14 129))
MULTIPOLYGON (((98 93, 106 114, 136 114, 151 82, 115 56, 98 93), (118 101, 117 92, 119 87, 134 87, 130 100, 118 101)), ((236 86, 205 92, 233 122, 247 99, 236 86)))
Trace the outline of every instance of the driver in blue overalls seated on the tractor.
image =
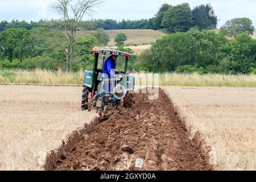
POLYGON ((105 79, 104 85, 109 85, 109 86, 105 86, 106 93, 109 93, 110 90, 113 91, 113 88, 112 88, 113 86, 111 86, 113 85, 113 83, 111 79, 115 77, 115 61, 117 60, 117 57, 118 55, 109 56, 109 58, 106 59, 104 63, 104 67, 103 67, 103 75, 105 79))

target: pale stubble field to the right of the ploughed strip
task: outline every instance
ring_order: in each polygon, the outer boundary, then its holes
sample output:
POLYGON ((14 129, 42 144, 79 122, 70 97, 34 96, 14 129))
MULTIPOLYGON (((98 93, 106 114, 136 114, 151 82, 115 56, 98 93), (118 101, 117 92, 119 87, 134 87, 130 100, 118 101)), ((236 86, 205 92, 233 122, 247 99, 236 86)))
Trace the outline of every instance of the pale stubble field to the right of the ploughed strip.
POLYGON ((204 139, 217 170, 256 169, 256 89, 166 86, 191 138, 204 139))

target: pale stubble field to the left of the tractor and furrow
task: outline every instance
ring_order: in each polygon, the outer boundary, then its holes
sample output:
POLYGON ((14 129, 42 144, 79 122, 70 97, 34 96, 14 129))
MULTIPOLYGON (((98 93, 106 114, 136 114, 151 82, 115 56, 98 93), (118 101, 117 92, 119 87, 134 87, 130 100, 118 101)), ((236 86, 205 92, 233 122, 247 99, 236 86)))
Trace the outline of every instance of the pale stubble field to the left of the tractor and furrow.
POLYGON ((46 152, 89 123, 81 87, 0 85, 0 170, 40 170, 46 152))

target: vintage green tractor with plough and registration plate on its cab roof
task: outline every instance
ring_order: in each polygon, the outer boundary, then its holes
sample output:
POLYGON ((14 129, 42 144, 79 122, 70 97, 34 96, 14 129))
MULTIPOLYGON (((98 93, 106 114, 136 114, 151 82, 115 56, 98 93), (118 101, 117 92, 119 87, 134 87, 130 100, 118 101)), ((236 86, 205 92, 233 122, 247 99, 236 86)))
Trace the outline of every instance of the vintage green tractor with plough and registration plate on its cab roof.
POLYGON ((135 78, 127 73, 127 63, 131 57, 130 53, 97 49, 93 50, 94 64, 93 71, 85 71, 84 88, 82 90, 81 109, 89 111, 97 109, 100 118, 108 119, 112 112, 109 110, 118 109, 123 113, 123 106, 131 107, 134 104, 133 95, 135 78), (106 80, 103 73, 104 63, 108 56, 117 55, 115 76, 106 80), (112 89, 106 92, 108 81, 112 89), (106 84, 107 83, 107 84, 106 84))

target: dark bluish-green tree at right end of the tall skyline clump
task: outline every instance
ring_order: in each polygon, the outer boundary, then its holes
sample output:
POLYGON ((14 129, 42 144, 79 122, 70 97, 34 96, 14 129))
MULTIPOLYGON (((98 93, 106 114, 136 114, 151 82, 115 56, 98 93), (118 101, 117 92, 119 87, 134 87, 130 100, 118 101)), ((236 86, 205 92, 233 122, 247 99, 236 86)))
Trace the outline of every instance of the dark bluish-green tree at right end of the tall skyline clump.
POLYGON ((213 7, 210 4, 196 6, 193 9, 193 26, 200 30, 211 30, 217 26, 217 16, 214 15, 213 7))

